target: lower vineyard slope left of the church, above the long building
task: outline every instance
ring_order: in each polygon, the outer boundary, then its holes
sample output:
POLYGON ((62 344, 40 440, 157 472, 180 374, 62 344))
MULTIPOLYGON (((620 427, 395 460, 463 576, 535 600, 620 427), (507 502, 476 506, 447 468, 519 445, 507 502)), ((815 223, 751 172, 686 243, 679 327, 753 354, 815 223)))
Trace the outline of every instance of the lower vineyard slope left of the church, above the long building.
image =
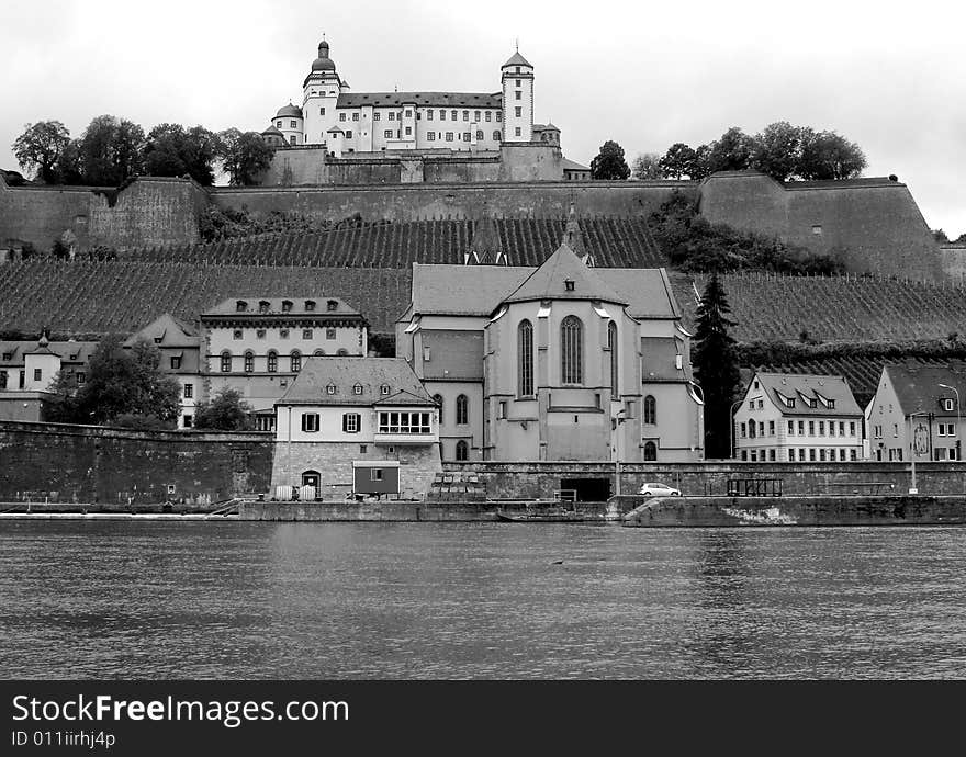
POLYGON ((409 302, 400 269, 26 261, 0 265, 0 330, 135 331, 162 313, 189 323, 226 297, 334 295, 392 332, 409 302))

